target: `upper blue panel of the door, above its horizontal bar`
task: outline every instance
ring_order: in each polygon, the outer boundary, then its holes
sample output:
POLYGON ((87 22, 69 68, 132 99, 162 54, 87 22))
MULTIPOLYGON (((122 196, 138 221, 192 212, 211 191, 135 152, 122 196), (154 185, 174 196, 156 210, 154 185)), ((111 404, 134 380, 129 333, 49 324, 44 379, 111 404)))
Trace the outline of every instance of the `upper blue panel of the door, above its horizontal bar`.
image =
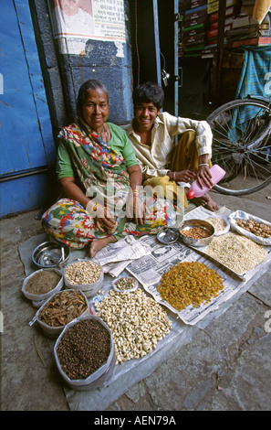
POLYGON ((55 156, 47 100, 26 1, 2 5, 0 174, 47 166, 55 156))

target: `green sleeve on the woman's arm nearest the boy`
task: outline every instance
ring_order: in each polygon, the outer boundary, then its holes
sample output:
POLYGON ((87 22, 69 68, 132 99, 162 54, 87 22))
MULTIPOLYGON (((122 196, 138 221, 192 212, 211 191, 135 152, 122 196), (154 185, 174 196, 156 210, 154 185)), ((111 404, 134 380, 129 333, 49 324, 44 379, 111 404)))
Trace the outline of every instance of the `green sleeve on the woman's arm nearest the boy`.
POLYGON ((109 145, 111 148, 115 149, 121 156, 123 156, 125 160, 125 166, 131 167, 139 164, 132 145, 130 144, 130 140, 125 133, 125 131, 119 126, 115 124, 108 123, 109 129, 111 132, 111 139, 109 141, 109 145))

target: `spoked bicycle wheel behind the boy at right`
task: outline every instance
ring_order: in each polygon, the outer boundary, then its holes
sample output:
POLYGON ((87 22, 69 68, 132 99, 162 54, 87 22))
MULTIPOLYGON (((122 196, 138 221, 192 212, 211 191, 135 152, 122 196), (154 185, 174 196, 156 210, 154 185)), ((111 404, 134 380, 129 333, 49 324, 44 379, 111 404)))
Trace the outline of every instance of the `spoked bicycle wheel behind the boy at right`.
POLYGON ((213 132, 213 164, 226 175, 214 189, 242 196, 271 182, 271 101, 227 102, 206 121, 213 132))

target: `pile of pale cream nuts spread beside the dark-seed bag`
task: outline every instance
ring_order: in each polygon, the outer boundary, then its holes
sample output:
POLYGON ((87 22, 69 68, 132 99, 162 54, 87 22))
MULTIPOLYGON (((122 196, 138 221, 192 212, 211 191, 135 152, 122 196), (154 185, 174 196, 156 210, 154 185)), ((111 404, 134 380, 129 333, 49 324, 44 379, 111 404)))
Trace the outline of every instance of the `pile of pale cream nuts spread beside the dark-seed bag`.
POLYGON ((144 357, 172 328, 166 311, 140 288, 125 295, 110 290, 95 307, 112 332, 117 363, 144 357))

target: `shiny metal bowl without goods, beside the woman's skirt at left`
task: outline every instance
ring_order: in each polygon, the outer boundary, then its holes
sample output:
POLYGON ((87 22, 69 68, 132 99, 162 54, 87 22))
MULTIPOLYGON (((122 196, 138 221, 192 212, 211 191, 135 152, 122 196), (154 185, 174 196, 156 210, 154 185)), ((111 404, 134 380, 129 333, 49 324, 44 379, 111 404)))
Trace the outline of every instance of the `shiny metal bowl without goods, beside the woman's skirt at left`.
POLYGON ((43 242, 32 253, 32 261, 42 269, 64 265, 69 257, 69 248, 57 242, 43 242))

